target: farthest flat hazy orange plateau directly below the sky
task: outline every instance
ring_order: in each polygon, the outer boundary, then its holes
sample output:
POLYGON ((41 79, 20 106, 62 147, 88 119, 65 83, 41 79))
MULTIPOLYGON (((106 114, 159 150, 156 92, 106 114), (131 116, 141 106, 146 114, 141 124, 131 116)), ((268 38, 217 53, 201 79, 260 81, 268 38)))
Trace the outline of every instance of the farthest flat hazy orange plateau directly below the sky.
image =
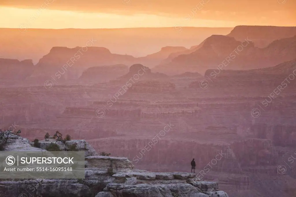
POLYGON ((143 57, 159 51, 164 46, 197 45, 212 34, 226 35, 233 28, 184 27, 182 33, 170 28, 122 29, 28 29, 21 33, 17 28, 0 28, 0 57, 8 59, 33 59, 38 62, 54 46, 75 48, 94 39, 93 46, 109 49, 114 54, 143 57), (186 39, 184 39, 184 37, 186 39), (17 40, 15 39, 17 38, 17 40), (42 41, 42 42, 41 42, 42 41))

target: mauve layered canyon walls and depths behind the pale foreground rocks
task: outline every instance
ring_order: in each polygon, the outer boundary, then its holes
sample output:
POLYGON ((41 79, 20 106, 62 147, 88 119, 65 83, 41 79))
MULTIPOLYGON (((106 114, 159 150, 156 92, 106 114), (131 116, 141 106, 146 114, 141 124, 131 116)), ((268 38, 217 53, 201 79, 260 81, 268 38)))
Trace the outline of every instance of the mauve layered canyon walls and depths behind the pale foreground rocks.
POLYGON ((189 172, 195 158, 198 175, 218 181, 229 196, 295 193, 295 167, 285 164, 296 150, 295 80, 268 97, 293 73, 295 61, 256 70, 257 76, 252 70, 221 71, 212 81, 199 73, 160 79, 149 70, 133 83, 130 78, 144 67, 131 68, 126 76, 91 86, 1 88, 1 127, 18 125, 30 140, 59 130, 142 170, 189 172), (121 91, 129 80, 131 87, 121 91), (287 167, 284 174, 279 165, 287 167))

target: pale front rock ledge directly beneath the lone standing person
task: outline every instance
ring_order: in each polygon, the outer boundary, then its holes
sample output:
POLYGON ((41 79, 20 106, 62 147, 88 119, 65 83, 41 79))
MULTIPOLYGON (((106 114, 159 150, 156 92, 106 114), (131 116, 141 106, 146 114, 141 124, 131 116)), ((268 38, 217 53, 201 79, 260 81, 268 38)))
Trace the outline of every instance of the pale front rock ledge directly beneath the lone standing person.
POLYGON ((218 190, 218 183, 200 181, 193 173, 184 172, 128 172, 117 173, 114 183, 109 183, 96 197, 112 196, 191 196, 208 197, 228 195, 218 190))

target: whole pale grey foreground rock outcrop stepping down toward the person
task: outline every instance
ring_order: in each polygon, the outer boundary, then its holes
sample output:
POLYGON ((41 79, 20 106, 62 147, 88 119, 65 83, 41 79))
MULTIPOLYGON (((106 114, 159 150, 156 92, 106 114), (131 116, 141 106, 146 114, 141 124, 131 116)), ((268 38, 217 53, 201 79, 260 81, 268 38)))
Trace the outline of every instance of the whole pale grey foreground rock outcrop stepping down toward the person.
MULTIPOLYGON (((17 135, 10 135, 5 151, 41 151, 48 141, 40 141, 41 148, 34 148, 30 142, 17 135)), ((133 169, 133 164, 124 157, 97 156, 93 148, 83 140, 67 141, 77 143, 78 151, 85 151, 85 179, 22 179, 0 180, 0 193, 4 196, 43 197, 129 197, 129 196, 192 196, 228 197, 219 191, 218 183, 202 181, 194 173, 148 172, 133 169), (84 146, 81 146, 84 144, 84 146)), ((59 144, 61 146, 61 144, 59 144)))

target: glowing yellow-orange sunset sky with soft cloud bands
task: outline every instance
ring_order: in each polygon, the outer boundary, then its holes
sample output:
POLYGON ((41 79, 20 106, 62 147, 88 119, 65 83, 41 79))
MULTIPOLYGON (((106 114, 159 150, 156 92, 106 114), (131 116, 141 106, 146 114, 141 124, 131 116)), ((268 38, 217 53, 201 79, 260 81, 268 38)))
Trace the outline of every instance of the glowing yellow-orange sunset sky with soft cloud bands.
POLYGON ((0 28, 296 26, 295 7, 296 0, 0 0, 0 28))

